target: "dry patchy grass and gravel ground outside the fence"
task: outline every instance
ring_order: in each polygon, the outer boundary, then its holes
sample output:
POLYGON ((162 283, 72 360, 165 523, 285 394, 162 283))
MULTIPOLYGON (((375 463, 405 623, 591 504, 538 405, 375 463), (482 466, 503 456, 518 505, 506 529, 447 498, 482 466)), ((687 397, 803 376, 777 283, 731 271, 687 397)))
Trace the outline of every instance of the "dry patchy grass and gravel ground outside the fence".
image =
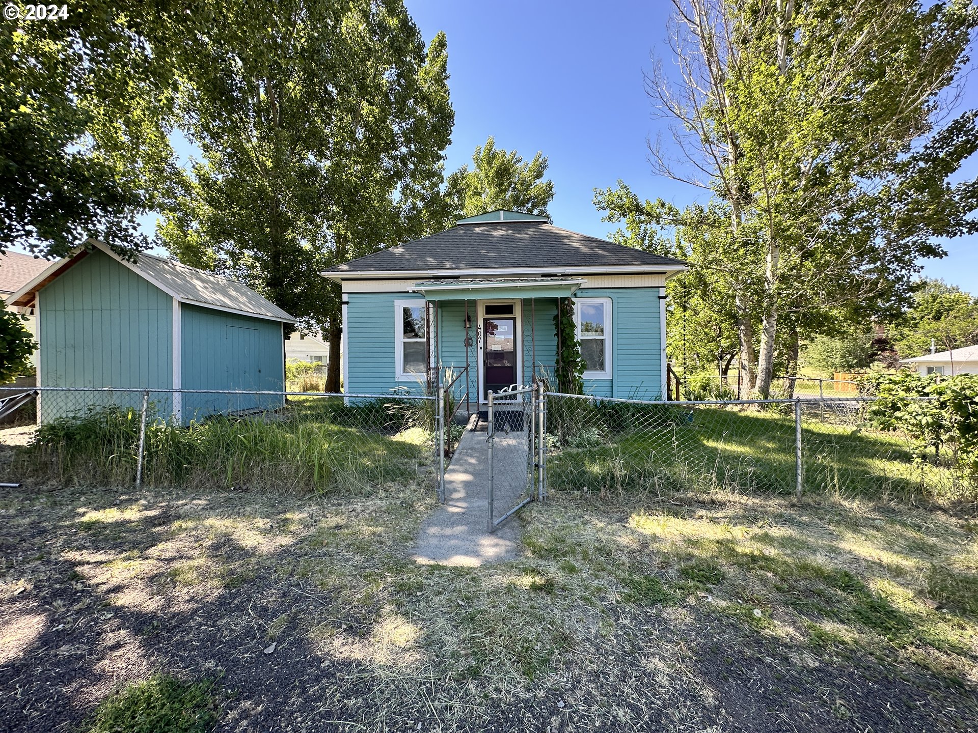
POLYGON ((421 483, 3 491, 0 729, 978 730, 978 524, 946 513, 557 495, 466 569, 410 560, 421 483))

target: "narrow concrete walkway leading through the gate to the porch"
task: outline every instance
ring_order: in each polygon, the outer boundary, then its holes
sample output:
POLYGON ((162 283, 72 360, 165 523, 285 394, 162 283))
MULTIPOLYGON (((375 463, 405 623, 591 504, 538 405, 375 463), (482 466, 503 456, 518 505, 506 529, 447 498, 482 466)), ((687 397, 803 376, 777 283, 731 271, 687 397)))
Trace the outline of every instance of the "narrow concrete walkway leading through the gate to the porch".
POLYGON ((488 497, 486 433, 466 430, 445 470, 445 503, 422 523, 415 560, 478 567, 514 558, 519 522, 513 519, 491 535, 486 532, 488 497))

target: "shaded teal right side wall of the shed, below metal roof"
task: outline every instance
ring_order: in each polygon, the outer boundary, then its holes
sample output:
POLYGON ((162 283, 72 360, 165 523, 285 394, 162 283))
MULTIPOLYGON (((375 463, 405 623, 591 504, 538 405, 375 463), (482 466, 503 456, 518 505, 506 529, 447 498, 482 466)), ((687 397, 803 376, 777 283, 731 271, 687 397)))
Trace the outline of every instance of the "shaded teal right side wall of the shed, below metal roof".
MULTIPOLYGON (((186 304, 180 319, 183 389, 283 391, 282 323, 186 304)), ((282 406, 275 395, 191 394, 183 417, 282 406)))

